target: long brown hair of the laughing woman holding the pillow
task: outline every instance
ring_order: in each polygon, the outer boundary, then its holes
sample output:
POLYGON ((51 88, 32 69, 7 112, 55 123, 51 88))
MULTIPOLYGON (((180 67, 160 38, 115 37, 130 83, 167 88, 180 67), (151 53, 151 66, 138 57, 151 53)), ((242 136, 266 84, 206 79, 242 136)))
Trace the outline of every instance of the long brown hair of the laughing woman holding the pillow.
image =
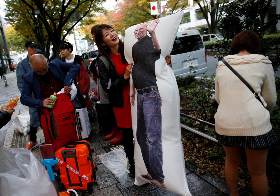
MULTIPOLYGON (((98 47, 99 52, 104 54, 107 57, 110 57, 111 50, 108 46, 106 47, 106 46, 101 45, 101 43, 104 42, 103 39, 102 39, 102 37, 103 37, 102 29, 110 29, 110 28, 113 29, 113 27, 111 27, 108 24, 100 24, 97 27, 97 29, 95 31, 95 35, 94 35, 95 36, 95 43, 98 47)), ((118 39, 119 39, 119 43, 118 43, 119 44, 119 49, 118 49, 118 51, 122 55, 122 63, 125 64, 125 63, 127 63, 127 60, 125 60, 125 51, 124 51, 124 47, 123 47, 123 42, 120 40, 119 37, 118 37, 118 39)))

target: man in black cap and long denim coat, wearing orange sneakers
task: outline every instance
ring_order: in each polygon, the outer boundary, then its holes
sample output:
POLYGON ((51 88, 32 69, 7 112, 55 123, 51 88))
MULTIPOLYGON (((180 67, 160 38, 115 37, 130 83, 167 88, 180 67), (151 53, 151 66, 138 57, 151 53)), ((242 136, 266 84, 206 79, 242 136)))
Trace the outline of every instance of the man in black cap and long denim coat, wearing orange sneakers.
MULTIPOLYGON (((27 40, 24 45, 24 49, 28 52, 26 58, 21 60, 17 65, 17 88, 22 91, 23 88, 23 76, 31 71, 32 67, 29 65, 29 58, 37 53, 38 44, 34 40, 27 40)), ((34 95, 31 95, 34 98, 34 95)), ((30 115, 30 139, 25 149, 32 150, 38 147, 37 144, 37 127, 40 126, 40 120, 36 108, 29 107, 30 115)))

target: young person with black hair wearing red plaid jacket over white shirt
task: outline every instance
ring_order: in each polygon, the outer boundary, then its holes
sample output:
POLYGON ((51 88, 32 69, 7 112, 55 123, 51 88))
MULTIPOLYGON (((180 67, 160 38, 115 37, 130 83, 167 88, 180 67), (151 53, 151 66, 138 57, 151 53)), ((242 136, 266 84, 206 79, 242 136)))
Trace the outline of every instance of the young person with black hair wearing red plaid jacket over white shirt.
POLYGON ((87 110, 92 109, 92 105, 90 102, 90 97, 88 95, 88 92, 90 90, 90 76, 88 75, 87 70, 85 69, 84 60, 79 55, 73 55, 71 52, 73 51, 73 46, 69 42, 61 42, 61 45, 59 47, 61 54, 63 57, 60 59, 60 61, 66 62, 66 63, 78 63, 81 65, 81 70, 79 74, 77 75, 75 79, 75 85, 77 89, 81 92, 81 94, 85 97, 85 100, 87 102, 87 110))

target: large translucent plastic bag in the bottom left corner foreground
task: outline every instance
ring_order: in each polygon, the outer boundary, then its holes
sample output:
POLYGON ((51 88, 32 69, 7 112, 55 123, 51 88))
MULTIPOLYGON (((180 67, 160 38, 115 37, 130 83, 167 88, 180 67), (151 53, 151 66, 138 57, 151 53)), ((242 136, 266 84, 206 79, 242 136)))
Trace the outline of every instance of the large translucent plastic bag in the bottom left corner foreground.
POLYGON ((31 151, 2 147, 7 129, 0 129, 0 195, 57 195, 45 167, 31 151))

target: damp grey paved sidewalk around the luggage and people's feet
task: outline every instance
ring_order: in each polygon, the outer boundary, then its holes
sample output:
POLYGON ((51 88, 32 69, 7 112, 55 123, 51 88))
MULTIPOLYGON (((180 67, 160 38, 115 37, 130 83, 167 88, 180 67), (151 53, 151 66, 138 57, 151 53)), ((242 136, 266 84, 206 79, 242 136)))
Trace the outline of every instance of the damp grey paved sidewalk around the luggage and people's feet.
MULTIPOLYGON (((6 75, 6 79, 8 82, 8 86, 5 87, 4 81, 0 80, 0 105, 2 106, 8 99, 20 97, 20 92, 17 89, 17 81, 16 81, 16 72, 10 72, 6 75)), ((91 87, 94 87, 94 82, 92 81, 91 87)), ((19 113, 19 107, 15 107, 15 112, 12 117, 16 117, 19 113)), ((110 145, 109 140, 104 140, 105 133, 102 133, 99 130, 97 119, 93 118, 91 120, 91 133, 89 138, 86 140, 90 142, 92 148, 94 149, 93 159, 95 160, 95 165, 97 166, 97 178, 94 187, 93 193, 79 192, 78 195, 176 195, 162 188, 158 188, 157 186, 147 183, 142 186, 136 186, 131 182, 131 186, 128 188, 122 188, 120 186, 120 182, 118 178, 108 169, 105 165, 100 161, 98 155, 105 154, 110 152, 113 149, 120 148, 122 143, 118 145, 110 145)), ((26 146, 27 141, 29 141, 29 134, 27 136, 23 136, 17 131, 14 130, 13 126, 11 126, 7 133, 6 139, 4 143, 4 147, 13 148, 13 147, 21 147, 24 148, 26 146)), ((43 143, 44 136, 43 131, 37 131, 37 142, 43 143)), ((39 148, 32 150, 33 154, 38 158, 39 161, 42 160, 41 152, 39 148)), ((172 167, 172 165, 171 165, 172 167)), ((227 184, 224 180, 217 179, 213 177, 209 173, 205 174, 197 174, 196 170, 198 165, 193 163, 192 161, 185 162, 185 170, 186 170, 186 178, 188 181, 188 187, 190 193, 192 195, 217 195, 217 196, 226 196, 229 195, 229 190, 227 188, 227 184)), ((243 195, 241 193, 241 195, 243 195)))

